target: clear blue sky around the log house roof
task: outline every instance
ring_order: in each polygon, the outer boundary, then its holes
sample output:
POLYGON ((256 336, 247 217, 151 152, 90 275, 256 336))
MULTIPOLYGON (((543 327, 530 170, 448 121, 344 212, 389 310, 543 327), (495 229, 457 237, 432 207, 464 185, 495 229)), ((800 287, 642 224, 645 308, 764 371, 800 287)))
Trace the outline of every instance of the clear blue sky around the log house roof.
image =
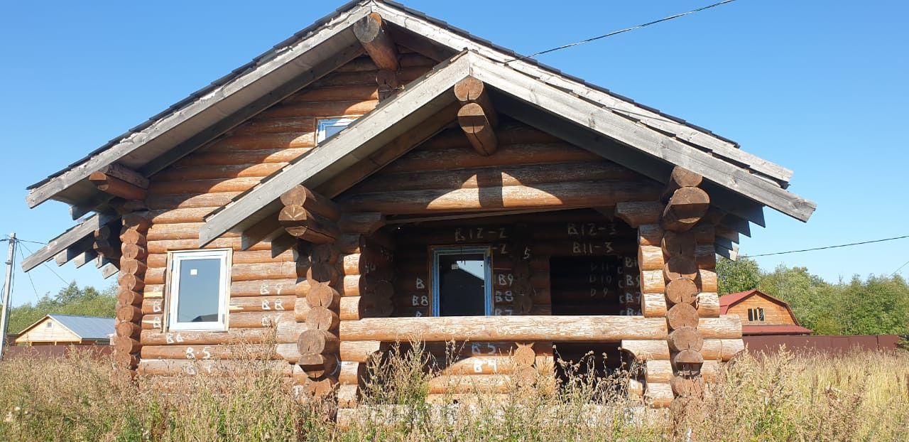
MULTIPOLYGON (((408 1, 417 10, 527 54, 637 25, 711 0, 408 1), (558 5, 559 7, 554 7, 558 5)), ((243 65, 342 2, 13 2, 0 17, 0 232, 47 241, 66 206, 29 210, 25 186, 243 65), (266 5, 267 4, 267 5, 266 5)), ((795 171, 814 200, 807 224, 766 210, 744 238, 761 254, 909 234, 909 4, 738 0, 672 22, 543 55, 614 92, 738 141, 795 171)), ((28 244, 33 250, 37 245, 28 244)), ((5 256, 5 250, 3 251, 5 256)), ((889 275, 909 239, 760 258, 828 280, 889 275)), ((52 265, 53 266, 53 265, 52 265)), ((18 268, 18 266, 17 266, 18 268)), ((106 286, 94 266, 54 266, 106 286)), ((909 276, 909 266, 902 272, 909 276)), ((63 282, 32 272, 39 294, 63 282)), ((15 305, 35 301, 17 271, 15 305)))

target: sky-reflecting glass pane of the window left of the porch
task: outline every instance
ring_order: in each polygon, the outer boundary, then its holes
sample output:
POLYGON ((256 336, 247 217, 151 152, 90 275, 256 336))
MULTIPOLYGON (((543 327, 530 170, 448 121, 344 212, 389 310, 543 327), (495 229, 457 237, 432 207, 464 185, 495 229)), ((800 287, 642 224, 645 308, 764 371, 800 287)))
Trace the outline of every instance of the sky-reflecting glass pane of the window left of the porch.
POLYGON ((177 322, 217 322, 221 286, 221 259, 201 258, 180 261, 177 287, 177 322))

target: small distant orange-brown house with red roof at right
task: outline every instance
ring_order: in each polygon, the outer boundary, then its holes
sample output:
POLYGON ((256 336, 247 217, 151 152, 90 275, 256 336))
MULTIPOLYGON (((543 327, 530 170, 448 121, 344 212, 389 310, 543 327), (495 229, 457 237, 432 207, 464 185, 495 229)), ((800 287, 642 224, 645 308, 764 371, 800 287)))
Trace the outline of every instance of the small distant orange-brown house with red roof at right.
POLYGON ((720 296, 720 315, 742 318, 742 335, 810 335, 813 331, 799 325, 792 307, 782 299, 760 290, 747 290, 720 296))

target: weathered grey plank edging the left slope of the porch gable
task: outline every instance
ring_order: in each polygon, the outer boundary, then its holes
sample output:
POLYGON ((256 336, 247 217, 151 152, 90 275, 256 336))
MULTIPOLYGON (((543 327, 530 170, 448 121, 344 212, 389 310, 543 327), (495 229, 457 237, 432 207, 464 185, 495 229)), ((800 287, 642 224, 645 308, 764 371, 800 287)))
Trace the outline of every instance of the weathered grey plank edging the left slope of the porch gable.
POLYGON ((312 188, 319 186, 453 103, 451 88, 469 74, 469 61, 469 56, 462 55, 444 68, 432 71, 423 80, 415 81, 412 87, 389 99, 381 110, 360 118, 316 147, 305 160, 285 167, 234 204, 208 218, 199 232, 200 245, 208 244, 235 226, 243 228, 275 213, 281 206, 278 197, 291 187, 301 183, 312 188))

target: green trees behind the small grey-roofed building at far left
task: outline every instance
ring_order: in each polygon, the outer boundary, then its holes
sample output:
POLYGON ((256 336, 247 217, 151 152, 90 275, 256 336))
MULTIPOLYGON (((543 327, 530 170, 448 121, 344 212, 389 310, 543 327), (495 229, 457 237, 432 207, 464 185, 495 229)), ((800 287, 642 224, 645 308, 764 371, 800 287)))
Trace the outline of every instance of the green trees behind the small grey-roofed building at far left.
POLYGON ((116 289, 99 292, 93 286, 79 288, 75 281, 60 289, 56 296, 45 295, 33 306, 25 303, 10 309, 9 333, 19 333, 47 314, 114 317, 116 289))

